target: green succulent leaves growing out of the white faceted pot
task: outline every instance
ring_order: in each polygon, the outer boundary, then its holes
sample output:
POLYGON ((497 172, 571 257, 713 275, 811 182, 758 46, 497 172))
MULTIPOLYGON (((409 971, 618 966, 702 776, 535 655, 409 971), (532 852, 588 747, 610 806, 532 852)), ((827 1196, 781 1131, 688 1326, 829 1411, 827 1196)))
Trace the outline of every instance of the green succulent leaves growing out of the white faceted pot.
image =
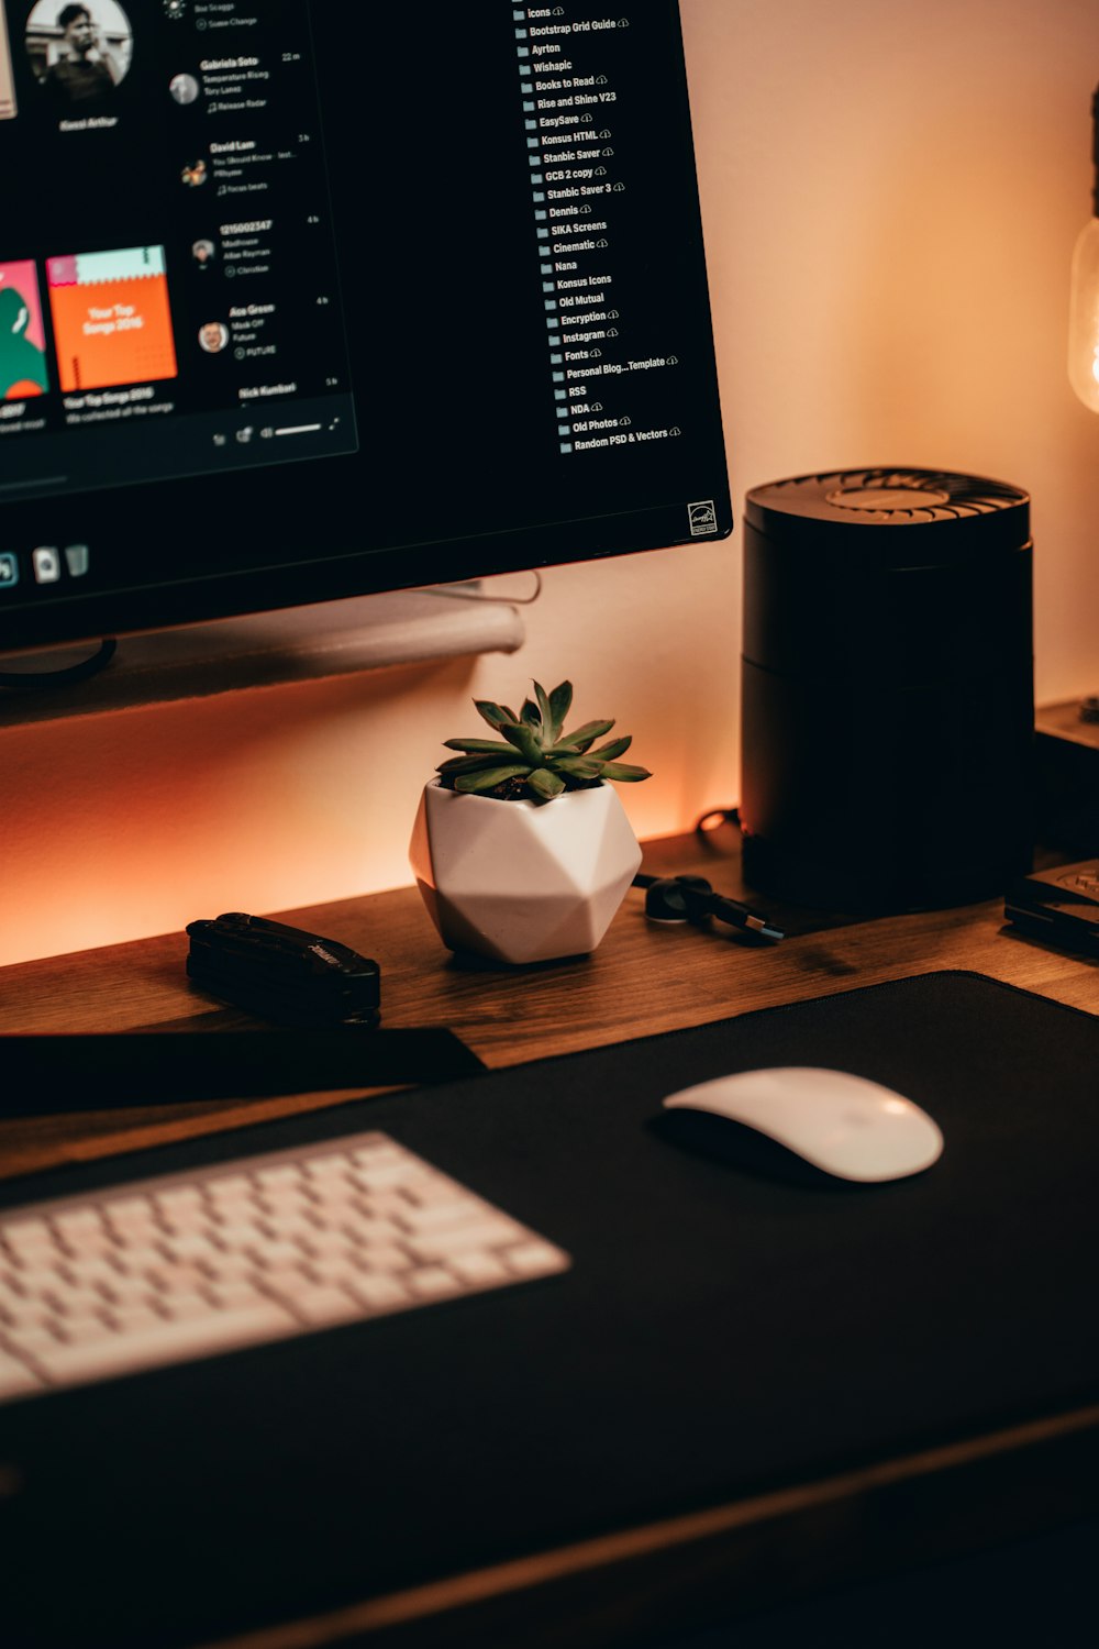
POLYGON ((610 739, 598 750, 592 745, 615 726, 613 721, 585 722, 564 732, 572 706, 572 683, 562 681, 547 693, 534 683, 534 699, 526 699, 516 716, 506 704, 473 701, 498 739, 447 739, 448 750, 461 750, 437 768, 448 790, 504 801, 552 801, 565 790, 592 790, 605 778, 636 783, 649 778, 644 767, 618 760, 631 745, 629 737, 610 739))

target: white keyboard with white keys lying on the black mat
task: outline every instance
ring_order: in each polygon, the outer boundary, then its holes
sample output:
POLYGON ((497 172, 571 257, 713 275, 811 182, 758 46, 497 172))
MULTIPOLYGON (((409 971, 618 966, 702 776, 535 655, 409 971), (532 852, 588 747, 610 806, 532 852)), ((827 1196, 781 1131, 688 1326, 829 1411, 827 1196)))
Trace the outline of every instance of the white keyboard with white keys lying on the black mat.
POLYGON ((28 1204, 0 1215, 0 1402, 568 1265, 384 1133, 28 1204))

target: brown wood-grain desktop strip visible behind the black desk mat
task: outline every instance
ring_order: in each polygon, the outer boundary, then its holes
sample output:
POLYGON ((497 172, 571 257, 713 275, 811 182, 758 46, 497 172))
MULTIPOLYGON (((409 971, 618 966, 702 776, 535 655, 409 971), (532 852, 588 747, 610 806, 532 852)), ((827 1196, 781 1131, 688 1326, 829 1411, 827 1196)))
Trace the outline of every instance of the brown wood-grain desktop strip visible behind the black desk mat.
MULTIPOLYGON (((592 956, 532 968, 458 961, 438 942, 415 889, 280 912, 382 968, 386 1026, 450 1026, 489 1067, 705 1024, 730 1014, 855 989, 936 968, 969 968, 1055 1001, 1099 1011, 1099 965, 1045 950, 1003 925, 1000 900, 959 910, 847 922, 750 894, 732 828, 646 844, 649 874, 705 876, 779 925, 779 945, 732 928, 662 927, 631 890, 592 956)), ((216 912, 196 912, 214 915, 216 912)), ((186 935, 79 951, 0 970, 2 1032, 185 1029, 255 1024, 193 989, 186 935)), ((0 1120, 0 1176, 241 1128, 359 1095, 81 1111, 0 1120)))

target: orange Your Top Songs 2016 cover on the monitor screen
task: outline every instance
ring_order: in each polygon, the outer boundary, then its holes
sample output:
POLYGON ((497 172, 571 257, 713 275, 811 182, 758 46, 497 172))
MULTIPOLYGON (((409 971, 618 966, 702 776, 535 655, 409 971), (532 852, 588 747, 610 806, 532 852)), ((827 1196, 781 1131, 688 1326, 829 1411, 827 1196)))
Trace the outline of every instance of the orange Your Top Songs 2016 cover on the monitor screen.
POLYGON ((163 246, 48 257, 46 284, 64 391, 176 376, 163 246))

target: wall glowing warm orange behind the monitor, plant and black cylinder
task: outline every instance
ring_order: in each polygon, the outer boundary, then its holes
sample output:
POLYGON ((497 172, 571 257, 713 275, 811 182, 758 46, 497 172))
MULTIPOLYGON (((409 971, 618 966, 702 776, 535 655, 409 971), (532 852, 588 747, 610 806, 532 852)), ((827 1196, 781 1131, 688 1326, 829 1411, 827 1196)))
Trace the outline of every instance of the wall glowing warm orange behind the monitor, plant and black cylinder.
MULTIPOLYGON (((1096 691, 1099 419, 1064 328, 1099 7, 682 10, 733 495, 878 462, 1027 486, 1038 699, 1096 691)), ((634 734, 641 834, 737 800, 740 533, 550 569, 526 620, 511 658, 2 731, 0 961, 407 882, 440 740, 534 674, 634 734)))

